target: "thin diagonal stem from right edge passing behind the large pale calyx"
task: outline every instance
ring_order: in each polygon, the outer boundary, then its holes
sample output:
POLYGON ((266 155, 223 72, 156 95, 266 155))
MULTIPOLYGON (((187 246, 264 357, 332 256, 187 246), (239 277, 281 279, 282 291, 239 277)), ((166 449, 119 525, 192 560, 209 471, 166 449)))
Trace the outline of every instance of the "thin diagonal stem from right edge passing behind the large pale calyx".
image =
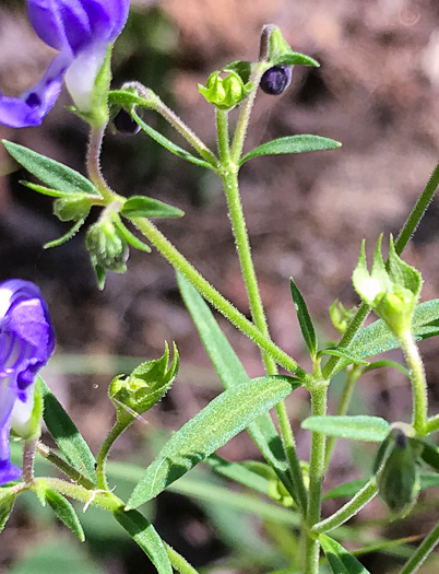
MULTIPOLYGON (((420 194, 419 199, 416 201, 407 221, 404 223, 401 232, 395 241, 395 251, 401 255, 407 245, 410 238, 415 233, 416 227, 419 225, 431 199, 439 186, 439 164, 435 167, 430 179, 428 180, 424 191, 420 194)), ((370 307, 365 303, 361 304, 356 315, 351 320, 346 331, 344 332, 339 347, 347 347, 354 339, 357 331, 360 329, 363 323, 370 312, 370 307)), ((323 376, 327 379, 331 379, 337 371, 341 359, 339 356, 331 356, 328 363, 323 367, 323 376)))

